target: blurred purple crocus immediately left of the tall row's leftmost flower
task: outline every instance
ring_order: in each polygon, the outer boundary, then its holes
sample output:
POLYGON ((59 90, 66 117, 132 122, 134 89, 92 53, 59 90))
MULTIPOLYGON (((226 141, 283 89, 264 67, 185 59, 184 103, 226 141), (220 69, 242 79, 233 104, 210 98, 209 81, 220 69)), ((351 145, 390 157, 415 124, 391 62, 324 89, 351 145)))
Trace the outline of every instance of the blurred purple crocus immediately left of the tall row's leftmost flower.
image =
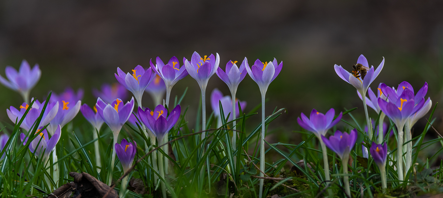
POLYGON ((96 98, 101 98, 105 103, 112 103, 115 99, 119 98, 122 100, 128 99, 128 90, 121 84, 104 83, 101 85, 101 90, 93 89, 92 94, 96 98))

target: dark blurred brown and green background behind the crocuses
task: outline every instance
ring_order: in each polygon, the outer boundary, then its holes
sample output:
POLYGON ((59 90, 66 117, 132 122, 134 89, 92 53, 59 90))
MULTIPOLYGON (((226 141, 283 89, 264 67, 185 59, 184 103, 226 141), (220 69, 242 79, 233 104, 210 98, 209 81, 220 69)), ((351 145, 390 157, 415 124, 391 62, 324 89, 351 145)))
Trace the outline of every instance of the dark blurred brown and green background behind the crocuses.
MULTIPOLYGON (((257 58, 284 62, 267 93, 267 115, 275 107, 288 109, 269 128, 280 131, 269 137, 273 142, 297 142, 291 132, 299 130, 295 120, 312 108, 326 112, 358 107, 354 116, 364 121, 355 88, 333 68, 337 64, 350 71, 360 54, 375 67, 385 57, 373 89, 381 82, 397 87, 405 80, 418 91, 427 81, 427 96, 434 104, 442 100, 443 1, 5 0, 0 8, 0 74, 4 76, 6 65, 18 68, 22 59, 38 63, 42 78, 31 91, 38 99, 70 86, 84 88, 83 102, 92 105, 96 99, 91 88, 117 82, 117 67, 125 72, 136 65, 148 68, 157 56, 163 61, 176 56, 183 65, 182 58, 197 51, 202 56, 219 53, 223 69, 227 61, 244 57, 251 66, 257 58)), ((194 123, 200 93, 196 81, 187 76, 171 95, 181 95, 186 87, 183 104, 190 106, 187 120, 194 123)), ((207 89, 208 109, 214 88, 230 94, 214 75, 207 89)), ((0 93, 0 119, 10 122, 6 108, 23 100, 4 86, 0 93)), ((237 97, 248 102, 246 111, 260 103, 258 86, 249 76, 237 97)), ((148 94, 143 103, 152 107, 148 94)), ((443 129, 441 109, 437 130, 443 129)), ((369 113, 376 116, 372 109, 369 113)), ((258 122, 256 115, 251 127, 258 122)), ((418 122, 415 131, 425 123, 418 122)))

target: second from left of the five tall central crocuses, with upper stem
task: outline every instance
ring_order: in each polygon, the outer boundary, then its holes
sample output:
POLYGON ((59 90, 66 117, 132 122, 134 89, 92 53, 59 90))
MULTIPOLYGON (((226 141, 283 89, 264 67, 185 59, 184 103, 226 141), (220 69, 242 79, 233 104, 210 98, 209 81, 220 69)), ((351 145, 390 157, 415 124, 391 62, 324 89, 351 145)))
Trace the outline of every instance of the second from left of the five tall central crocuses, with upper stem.
MULTIPOLYGON (((186 59, 183 57, 183 64, 185 60, 186 59)), ((188 75, 187 68, 184 65, 180 67, 179 59, 175 56, 171 57, 166 65, 163 63, 160 57, 155 59, 155 65, 152 63, 152 60, 149 61, 149 64, 151 65, 152 70, 154 70, 154 72, 164 80, 166 87, 165 103, 169 107, 169 97, 171 95, 172 87, 174 87, 179 80, 182 80, 188 75)))

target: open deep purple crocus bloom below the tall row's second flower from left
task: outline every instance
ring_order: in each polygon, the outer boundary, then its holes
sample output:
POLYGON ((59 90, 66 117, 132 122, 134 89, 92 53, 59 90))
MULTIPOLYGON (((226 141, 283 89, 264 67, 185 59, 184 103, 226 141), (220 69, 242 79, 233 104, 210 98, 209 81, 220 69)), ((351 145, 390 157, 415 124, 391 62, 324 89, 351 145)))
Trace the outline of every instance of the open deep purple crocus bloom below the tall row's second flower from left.
POLYGON ((149 108, 143 110, 140 107, 138 109, 140 121, 154 133, 159 141, 163 140, 167 132, 174 127, 179 120, 180 113, 180 105, 177 105, 169 115, 167 115, 167 109, 162 105, 157 105, 154 110, 149 108))

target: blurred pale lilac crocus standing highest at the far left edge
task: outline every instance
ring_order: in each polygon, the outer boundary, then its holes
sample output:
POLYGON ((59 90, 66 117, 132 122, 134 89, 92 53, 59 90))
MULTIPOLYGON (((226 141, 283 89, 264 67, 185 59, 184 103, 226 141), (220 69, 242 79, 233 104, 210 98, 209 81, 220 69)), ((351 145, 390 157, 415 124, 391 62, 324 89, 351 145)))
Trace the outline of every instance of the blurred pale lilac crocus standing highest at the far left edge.
POLYGON ((5 87, 18 91, 22 95, 25 103, 29 103, 29 92, 35 87, 35 84, 37 84, 42 75, 39 65, 35 64, 34 68, 31 69, 29 63, 23 60, 18 72, 13 67, 6 66, 5 73, 8 80, 0 76, 0 83, 5 87))

